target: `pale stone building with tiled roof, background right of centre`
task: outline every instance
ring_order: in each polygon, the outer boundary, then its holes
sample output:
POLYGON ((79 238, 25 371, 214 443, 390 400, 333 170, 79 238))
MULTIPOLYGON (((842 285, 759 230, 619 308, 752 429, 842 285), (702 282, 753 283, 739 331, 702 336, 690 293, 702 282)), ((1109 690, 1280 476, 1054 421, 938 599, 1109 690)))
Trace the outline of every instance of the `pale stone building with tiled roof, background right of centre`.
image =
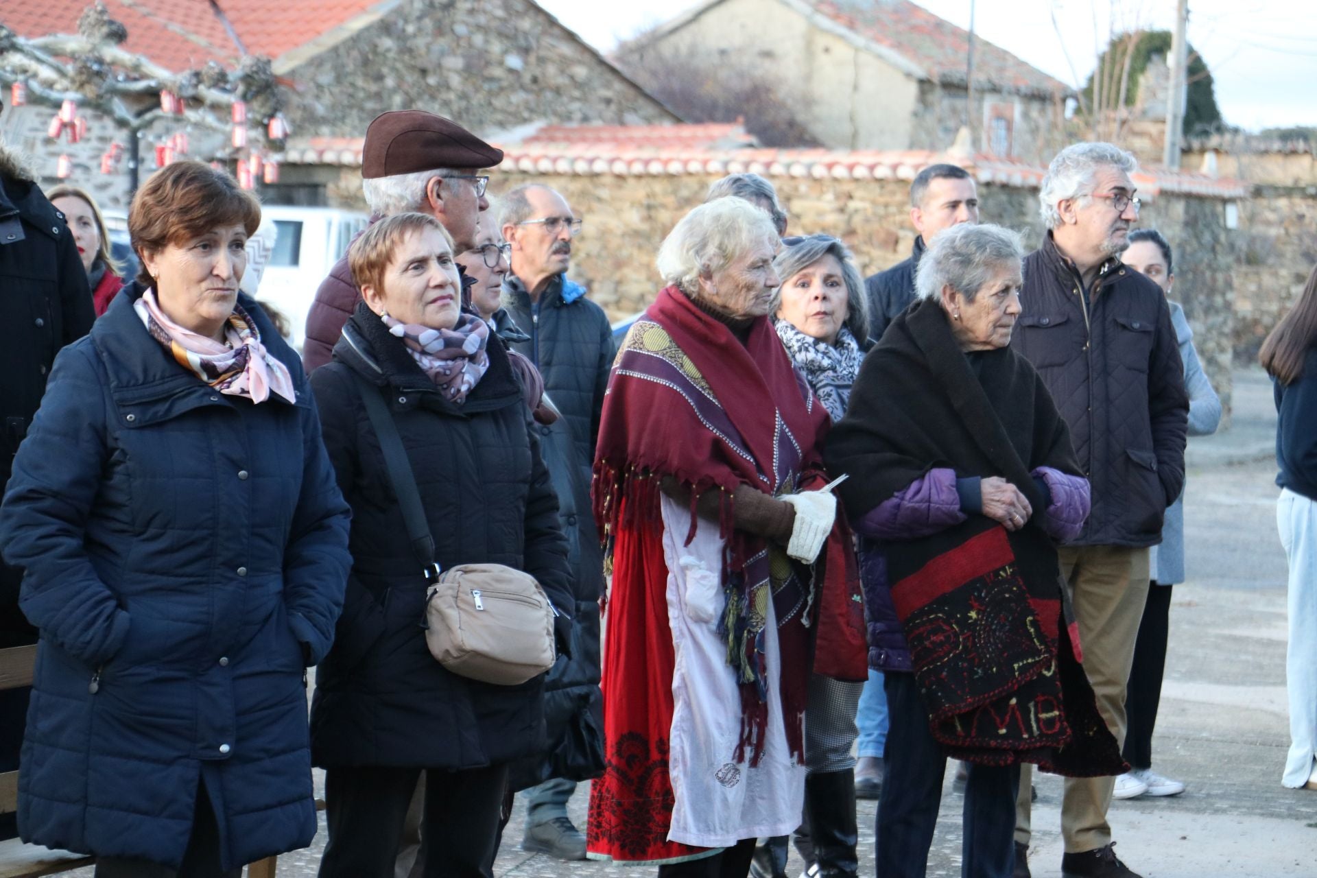
MULTIPOLYGON (((938 150, 968 121, 967 51, 964 30, 909 0, 706 0, 615 54, 662 75, 685 58, 724 61, 831 149, 938 150)), ((976 151, 1054 153, 1072 90, 981 38, 975 53, 976 151)))

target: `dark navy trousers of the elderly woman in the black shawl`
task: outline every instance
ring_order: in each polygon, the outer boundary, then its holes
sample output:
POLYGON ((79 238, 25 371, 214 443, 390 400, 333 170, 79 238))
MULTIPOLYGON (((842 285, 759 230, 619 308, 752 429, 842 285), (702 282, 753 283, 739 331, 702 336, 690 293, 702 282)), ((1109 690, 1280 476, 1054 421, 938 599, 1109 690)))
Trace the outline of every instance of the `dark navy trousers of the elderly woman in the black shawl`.
MULTIPOLYGON (((928 712, 913 674, 884 681, 892 729, 882 795, 878 799, 878 878, 923 878, 938 825, 947 754, 928 731, 928 712)), ((1015 869, 1014 765, 969 765, 965 783, 963 878, 1010 878, 1015 869)))

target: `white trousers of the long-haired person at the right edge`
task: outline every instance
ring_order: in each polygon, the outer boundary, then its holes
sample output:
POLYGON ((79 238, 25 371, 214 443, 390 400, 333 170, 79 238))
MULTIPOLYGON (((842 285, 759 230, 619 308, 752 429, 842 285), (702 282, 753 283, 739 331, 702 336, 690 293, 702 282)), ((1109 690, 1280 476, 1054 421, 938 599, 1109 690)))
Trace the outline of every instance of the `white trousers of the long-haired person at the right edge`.
POLYGON ((1317 757, 1317 503, 1281 490, 1276 527, 1289 561, 1289 756, 1280 782, 1297 788, 1308 782, 1317 757))

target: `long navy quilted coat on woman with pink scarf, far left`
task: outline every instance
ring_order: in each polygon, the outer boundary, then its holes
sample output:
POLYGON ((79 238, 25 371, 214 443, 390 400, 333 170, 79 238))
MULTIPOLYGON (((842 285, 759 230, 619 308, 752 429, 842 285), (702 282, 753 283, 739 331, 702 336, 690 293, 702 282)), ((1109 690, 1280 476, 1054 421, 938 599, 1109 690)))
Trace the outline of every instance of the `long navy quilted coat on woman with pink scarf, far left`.
POLYGON ((304 663, 329 649, 348 507, 296 354, 296 404, 223 395, 116 296, 65 349, 14 459, 0 541, 41 629, 28 841, 178 866, 199 783, 221 866, 311 844, 304 663))

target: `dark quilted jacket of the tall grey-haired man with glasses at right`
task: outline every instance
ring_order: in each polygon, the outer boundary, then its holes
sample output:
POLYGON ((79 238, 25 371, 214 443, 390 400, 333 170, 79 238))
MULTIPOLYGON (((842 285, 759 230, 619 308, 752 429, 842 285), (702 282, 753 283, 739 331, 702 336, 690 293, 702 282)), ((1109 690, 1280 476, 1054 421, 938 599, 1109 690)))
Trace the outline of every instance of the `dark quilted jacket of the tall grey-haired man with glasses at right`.
POLYGON ((1052 236, 1025 258, 1011 346, 1038 370, 1069 425, 1093 509, 1075 545, 1150 546, 1184 487, 1189 398, 1162 290, 1109 259, 1085 307, 1052 236))

